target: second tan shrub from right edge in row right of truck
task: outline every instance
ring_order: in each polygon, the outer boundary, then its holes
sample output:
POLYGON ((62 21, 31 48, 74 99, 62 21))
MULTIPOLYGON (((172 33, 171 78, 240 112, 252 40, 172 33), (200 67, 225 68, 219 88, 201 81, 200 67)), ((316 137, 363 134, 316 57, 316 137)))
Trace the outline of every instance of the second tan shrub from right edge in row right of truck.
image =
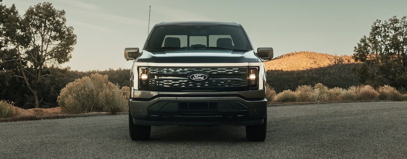
POLYGON ((374 90, 372 86, 352 86, 349 88, 356 94, 357 100, 370 101, 377 100, 379 98, 379 92, 374 90))

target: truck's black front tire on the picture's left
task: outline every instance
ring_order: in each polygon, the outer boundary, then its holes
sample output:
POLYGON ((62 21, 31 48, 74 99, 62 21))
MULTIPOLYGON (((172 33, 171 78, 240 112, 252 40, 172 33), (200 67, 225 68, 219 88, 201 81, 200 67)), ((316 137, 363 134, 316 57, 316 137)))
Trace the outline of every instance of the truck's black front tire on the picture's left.
POLYGON ((134 125, 133 116, 131 116, 131 113, 129 110, 129 132, 130 132, 130 138, 133 141, 149 140, 150 133, 151 133, 151 126, 134 125))

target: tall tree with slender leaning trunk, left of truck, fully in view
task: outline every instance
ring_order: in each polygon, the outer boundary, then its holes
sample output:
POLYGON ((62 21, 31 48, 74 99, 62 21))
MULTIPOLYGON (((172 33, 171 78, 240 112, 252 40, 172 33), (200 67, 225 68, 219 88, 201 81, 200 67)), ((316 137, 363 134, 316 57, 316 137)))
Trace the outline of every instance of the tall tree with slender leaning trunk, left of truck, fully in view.
POLYGON ((65 11, 53 8, 44 2, 30 6, 22 17, 22 33, 26 37, 25 45, 17 45, 17 57, 20 77, 39 107, 42 82, 50 74, 43 72, 46 67, 60 67, 70 60, 77 36, 73 28, 66 26, 65 11))

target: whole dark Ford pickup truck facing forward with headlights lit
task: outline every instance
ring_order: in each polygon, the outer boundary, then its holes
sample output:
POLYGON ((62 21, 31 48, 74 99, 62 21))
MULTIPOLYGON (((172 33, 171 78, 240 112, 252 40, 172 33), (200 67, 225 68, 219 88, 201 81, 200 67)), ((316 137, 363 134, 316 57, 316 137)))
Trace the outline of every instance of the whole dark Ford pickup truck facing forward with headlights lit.
POLYGON ((155 24, 133 60, 129 99, 132 140, 151 126, 242 125, 249 141, 267 134, 266 71, 273 48, 253 49, 240 24, 184 21, 155 24))

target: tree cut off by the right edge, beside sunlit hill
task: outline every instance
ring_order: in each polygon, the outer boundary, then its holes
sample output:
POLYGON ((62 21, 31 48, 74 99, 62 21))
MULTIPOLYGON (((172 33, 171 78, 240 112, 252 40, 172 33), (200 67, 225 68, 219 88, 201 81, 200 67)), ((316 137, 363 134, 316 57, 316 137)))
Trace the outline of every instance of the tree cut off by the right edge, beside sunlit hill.
POLYGON ((369 37, 362 37, 354 47, 353 58, 362 62, 354 68, 364 84, 388 84, 407 89, 407 21, 396 16, 388 21, 376 20, 369 37))

